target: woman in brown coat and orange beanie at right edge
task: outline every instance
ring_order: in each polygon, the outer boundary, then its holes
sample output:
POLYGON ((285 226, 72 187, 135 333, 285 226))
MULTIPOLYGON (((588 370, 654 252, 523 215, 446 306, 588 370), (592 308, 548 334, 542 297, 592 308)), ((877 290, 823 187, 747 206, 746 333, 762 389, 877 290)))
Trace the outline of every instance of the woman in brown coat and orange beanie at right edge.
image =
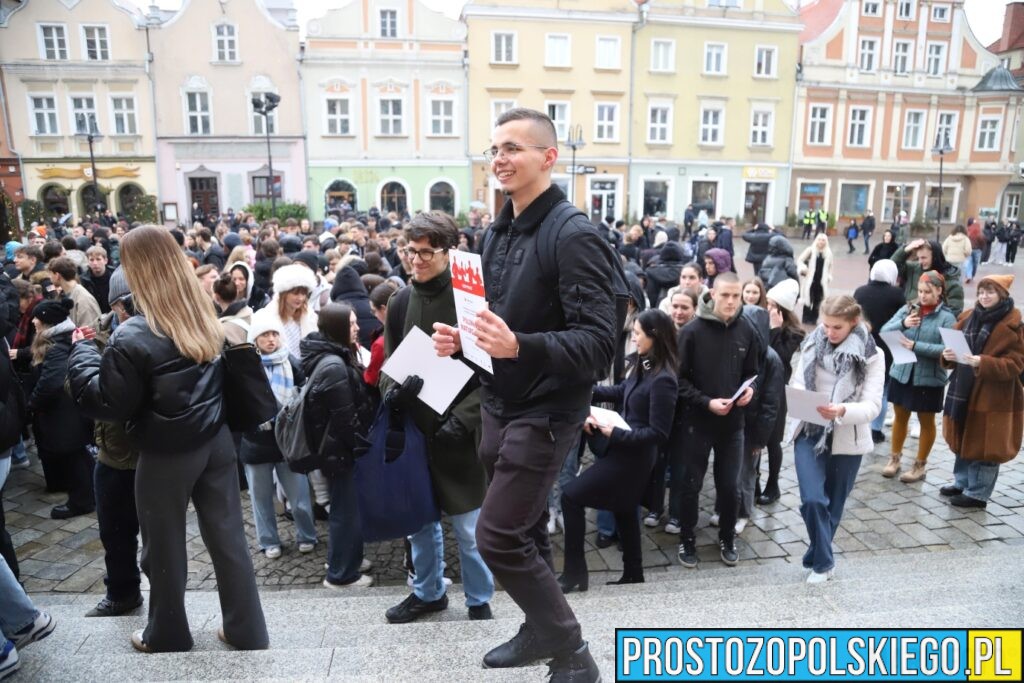
POLYGON ((962 508, 985 507, 999 465, 1017 457, 1024 434, 1024 327, 1010 297, 1013 282, 1010 274, 983 278, 977 305, 954 327, 967 337, 971 354, 956 362, 953 351, 942 352, 942 365, 953 369, 942 435, 956 462, 954 483, 940 493, 962 508))

